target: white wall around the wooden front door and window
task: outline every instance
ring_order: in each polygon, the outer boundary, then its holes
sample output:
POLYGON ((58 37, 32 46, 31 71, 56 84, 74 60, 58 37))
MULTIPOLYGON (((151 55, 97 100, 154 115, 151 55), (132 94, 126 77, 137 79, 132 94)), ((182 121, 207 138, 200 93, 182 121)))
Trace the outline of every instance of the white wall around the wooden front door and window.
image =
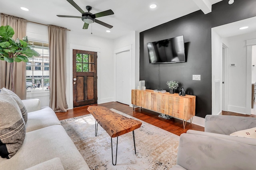
MULTIPOLYGON (((48 41, 48 28, 45 25, 27 23, 27 36, 29 39, 48 41)), ((114 59, 113 40, 104 39, 95 35, 81 35, 74 31, 67 31, 67 88, 66 97, 68 108, 73 108, 72 96, 72 55, 70 47, 78 47, 82 50, 98 52, 98 103, 114 101, 114 59)), ((27 94, 27 98, 39 98, 42 106, 49 106, 50 97, 48 93, 27 94)))

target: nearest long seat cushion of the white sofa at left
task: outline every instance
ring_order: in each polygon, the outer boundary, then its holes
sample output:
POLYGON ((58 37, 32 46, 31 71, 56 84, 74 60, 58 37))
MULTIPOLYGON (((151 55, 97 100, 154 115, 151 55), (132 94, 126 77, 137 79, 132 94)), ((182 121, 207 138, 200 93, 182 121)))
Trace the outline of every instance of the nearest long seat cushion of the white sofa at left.
POLYGON ((90 170, 61 125, 27 132, 22 147, 11 159, 0 158, 0 169, 24 170, 56 157, 65 170, 90 170))

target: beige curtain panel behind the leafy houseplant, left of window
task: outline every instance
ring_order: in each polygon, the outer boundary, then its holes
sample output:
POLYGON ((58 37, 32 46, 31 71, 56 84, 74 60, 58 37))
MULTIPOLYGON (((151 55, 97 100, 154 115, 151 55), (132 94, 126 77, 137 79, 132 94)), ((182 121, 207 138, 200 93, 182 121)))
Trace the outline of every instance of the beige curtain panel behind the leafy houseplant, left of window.
MULTIPOLYGON (((10 25, 14 29, 13 39, 26 36, 27 20, 0 14, 1 25, 10 25)), ((26 99, 26 63, 13 63, 13 82, 15 93, 23 100, 26 99)), ((0 60, 0 88, 12 90, 10 63, 0 60)))

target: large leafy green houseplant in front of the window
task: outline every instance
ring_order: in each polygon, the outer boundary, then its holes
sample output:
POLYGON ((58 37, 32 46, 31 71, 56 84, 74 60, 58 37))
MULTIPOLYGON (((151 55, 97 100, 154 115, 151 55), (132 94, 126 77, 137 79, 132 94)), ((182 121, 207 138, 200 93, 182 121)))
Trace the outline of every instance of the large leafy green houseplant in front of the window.
POLYGON ((28 62, 29 57, 39 57, 40 54, 32 49, 28 43, 28 38, 12 39, 14 30, 9 25, 0 27, 0 60, 10 63, 12 91, 14 92, 13 82, 13 62, 28 62))

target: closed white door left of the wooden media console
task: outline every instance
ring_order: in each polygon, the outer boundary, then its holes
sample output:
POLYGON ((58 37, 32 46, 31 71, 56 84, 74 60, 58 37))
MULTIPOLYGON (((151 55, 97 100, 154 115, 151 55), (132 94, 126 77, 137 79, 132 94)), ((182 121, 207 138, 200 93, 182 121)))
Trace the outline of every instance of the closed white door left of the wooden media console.
POLYGON ((116 101, 131 104, 131 54, 130 51, 116 53, 116 101))

